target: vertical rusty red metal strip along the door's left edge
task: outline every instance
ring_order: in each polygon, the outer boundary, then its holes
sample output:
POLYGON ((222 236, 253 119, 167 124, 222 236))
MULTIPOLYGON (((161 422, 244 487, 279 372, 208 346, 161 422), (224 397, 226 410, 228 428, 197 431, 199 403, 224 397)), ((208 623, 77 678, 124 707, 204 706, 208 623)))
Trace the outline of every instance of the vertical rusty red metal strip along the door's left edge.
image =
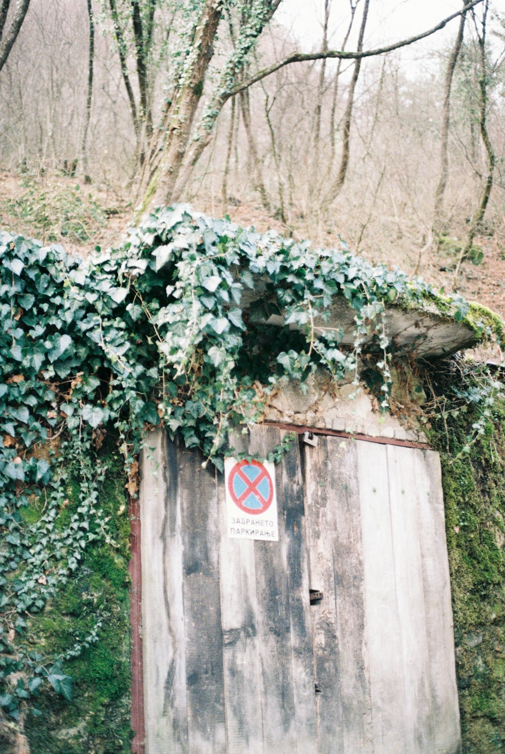
POLYGON ((142 560, 140 553, 139 498, 128 495, 130 512, 130 625, 131 625, 131 729, 132 754, 145 754, 144 685, 142 660, 142 560))

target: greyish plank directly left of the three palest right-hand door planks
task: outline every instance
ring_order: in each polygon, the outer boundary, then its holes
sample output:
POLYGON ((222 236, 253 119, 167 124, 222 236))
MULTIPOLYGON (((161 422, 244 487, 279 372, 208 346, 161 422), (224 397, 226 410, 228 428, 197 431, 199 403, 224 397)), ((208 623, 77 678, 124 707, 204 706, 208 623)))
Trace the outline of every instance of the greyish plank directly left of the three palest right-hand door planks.
MULTIPOLYGON (((373 752, 357 443, 326 439, 345 754, 373 752)), ((323 697, 321 699, 323 702, 323 697)))

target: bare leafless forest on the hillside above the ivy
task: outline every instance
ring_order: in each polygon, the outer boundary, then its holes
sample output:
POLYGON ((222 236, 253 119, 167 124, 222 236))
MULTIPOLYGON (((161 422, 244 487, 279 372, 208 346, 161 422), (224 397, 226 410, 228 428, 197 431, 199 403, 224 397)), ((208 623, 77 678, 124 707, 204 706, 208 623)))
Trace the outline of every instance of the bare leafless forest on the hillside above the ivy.
POLYGON ((189 201, 503 316, 505 7, 359 57, 462 7, 2 0, 0 225, 87 253, 189 201))

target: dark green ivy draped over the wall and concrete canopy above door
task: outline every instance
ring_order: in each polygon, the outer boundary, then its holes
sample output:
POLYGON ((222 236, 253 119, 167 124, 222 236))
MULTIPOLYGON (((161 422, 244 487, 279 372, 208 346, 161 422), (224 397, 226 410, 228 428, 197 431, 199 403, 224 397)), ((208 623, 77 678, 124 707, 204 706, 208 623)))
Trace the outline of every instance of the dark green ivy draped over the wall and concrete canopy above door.
POLYGON ((364 351, 378 354, 387 409, 386 305, 435 306, 479 339, 500 336, 490 312, 357 259, 344 243, 313 249, 185 205, 158 210, 117 250, 85 262, 8 233, 0 260, 0 708, 14 719, 23 703, 36 710, 44 685, 69 698, 65 662, 99 640, 97 617, 88 636, 44 655, 27 626, 90 542, 114 547, 96 455, 108 432, 135 495, 136 453, 152 426, 222 470, 229 431, 259 420, 280 381, 303 388, 324 368, 335 380, 353 375, 358 388, 364 351), (353 345, 324 329, 335 297, 354 310, 353 345), (78 506, 64 516, 71 474, 78 506), (41 514, 29 521, 33 501, 41 514))

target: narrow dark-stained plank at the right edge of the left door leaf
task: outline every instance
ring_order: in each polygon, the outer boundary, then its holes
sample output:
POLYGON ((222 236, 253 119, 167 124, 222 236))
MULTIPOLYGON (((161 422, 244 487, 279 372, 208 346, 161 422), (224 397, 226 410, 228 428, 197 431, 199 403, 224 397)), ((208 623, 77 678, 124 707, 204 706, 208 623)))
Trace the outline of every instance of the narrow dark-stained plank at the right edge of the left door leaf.
MULTIPOLYGON (((280 437, 286 433, 282 432, 280 437)), ((296 751, 317 754, 317 705, 309 601, 305 495, 298 438, 282 461, 282 494, 291 624, 296 751)))

